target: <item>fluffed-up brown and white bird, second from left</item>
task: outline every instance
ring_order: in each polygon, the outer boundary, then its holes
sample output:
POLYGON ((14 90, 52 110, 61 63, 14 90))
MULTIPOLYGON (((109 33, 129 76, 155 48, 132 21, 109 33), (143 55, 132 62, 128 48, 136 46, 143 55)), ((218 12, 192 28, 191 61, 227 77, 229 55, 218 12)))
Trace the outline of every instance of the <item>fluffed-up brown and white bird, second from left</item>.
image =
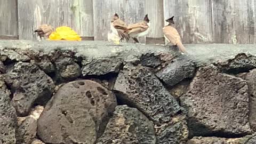
POLYGON ((115 43, 129 41, 129 35, 123 29, 116 29, 115 27, 127 27, 127 24, 119 18, 117 13, 111 18, 110 29, 112 33, 108 33, 108 40, 115 43))

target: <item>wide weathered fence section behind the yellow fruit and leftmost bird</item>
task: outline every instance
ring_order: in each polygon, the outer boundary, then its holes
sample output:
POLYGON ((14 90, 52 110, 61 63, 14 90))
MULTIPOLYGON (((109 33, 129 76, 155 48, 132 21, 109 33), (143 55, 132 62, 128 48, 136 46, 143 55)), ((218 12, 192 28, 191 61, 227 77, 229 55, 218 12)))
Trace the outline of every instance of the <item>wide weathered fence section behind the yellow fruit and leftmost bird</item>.
POLYGON ((33 30, 43 23, 54 28, 69 26, 81 36, 93 36, 92 0, 18 0, 18 4, 21 39, 35 39, 33 30))

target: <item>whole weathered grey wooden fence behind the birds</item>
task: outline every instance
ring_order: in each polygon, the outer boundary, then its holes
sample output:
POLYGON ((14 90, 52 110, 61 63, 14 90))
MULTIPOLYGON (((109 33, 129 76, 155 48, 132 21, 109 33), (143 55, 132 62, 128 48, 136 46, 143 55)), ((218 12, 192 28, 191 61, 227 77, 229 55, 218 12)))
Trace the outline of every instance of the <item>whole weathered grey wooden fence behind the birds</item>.
POLYGON ((43 23, 69 26, 83 39, 106 40, 110 17, 127 23, 148 13, 142 42, 163 43, 165 19, 175 15, 183 43, 256 43, 256 0, 1 0, 0 38, 35 39, 43 23))

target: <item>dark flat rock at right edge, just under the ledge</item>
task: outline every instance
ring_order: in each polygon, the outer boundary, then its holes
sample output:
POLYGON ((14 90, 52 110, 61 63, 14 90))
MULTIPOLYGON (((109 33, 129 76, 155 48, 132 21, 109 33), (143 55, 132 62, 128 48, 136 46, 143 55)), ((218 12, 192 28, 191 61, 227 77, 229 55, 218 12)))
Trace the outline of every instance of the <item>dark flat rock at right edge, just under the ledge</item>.
POLYGON ((256 68, 256 57, 251 54, 241 53, 235 58, 221 61, 216 64, 224 73, 242 73, 256 68))

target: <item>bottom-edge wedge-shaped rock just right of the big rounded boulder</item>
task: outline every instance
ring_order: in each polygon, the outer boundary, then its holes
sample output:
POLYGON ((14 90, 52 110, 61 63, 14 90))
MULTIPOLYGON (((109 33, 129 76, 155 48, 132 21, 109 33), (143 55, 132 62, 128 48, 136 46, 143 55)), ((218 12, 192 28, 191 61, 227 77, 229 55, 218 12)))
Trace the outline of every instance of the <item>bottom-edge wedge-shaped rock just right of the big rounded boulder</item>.
POLYGON ((136 108, 117 106, 97 144, 156 143, 154 124, 136 108))

